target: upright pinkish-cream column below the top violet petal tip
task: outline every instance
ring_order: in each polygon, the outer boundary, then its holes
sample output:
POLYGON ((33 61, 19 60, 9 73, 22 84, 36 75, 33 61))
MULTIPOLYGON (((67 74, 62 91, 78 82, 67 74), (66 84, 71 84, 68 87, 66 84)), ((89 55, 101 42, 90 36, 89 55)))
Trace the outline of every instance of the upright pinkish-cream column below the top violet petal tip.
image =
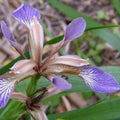
POLYGON ((33 17, 33 24, 31 25, 29 30, 29 45, 31 57, 34 61, 37 62, 38 66, 40 66, 42 59, 44 32, 42 26, 39 24, 35 17, 33 17))

